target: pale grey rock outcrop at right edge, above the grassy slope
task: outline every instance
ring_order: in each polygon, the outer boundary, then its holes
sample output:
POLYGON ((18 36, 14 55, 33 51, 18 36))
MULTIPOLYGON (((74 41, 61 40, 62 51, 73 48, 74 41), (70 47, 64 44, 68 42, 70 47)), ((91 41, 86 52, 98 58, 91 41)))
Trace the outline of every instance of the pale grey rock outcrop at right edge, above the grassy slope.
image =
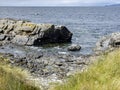
POLYGON ((110 48, 120 47, 120 33, 112 33, 102 37, 95 47, 95 51, 105 51, 110 48))

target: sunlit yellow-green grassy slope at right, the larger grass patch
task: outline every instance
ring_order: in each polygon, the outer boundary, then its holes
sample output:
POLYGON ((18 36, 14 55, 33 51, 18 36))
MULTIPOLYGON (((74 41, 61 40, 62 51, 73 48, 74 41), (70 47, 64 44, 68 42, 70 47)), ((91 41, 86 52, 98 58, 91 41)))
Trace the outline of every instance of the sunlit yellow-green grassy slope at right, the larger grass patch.
POLYGON ((120 49, 96 59, 87 71, 70 76, 51 90, 120 90, 120 49))

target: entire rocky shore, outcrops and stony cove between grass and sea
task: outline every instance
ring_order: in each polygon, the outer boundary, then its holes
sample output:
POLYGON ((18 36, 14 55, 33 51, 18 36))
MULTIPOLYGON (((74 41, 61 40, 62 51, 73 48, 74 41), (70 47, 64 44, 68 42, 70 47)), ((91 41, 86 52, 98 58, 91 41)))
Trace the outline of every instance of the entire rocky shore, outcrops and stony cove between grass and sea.
MULTIPOLYGON (((0 19, 0 54, 9 58, 11 65, 30 71, 42 88, 47 89, 51 82, 61 82, 91 63, 90 57, 95 55, 75 56, 66 52, 48 54, 39 48, 48 43, 71 42, 71 39, 72 33, 65 26, 0 19)), ((119 44, 119 33, 105 36, 97 43, 95 52, 118 47, 119 44)), ((69 51, 80 49, 79 45, 68 47, 69 51)))

